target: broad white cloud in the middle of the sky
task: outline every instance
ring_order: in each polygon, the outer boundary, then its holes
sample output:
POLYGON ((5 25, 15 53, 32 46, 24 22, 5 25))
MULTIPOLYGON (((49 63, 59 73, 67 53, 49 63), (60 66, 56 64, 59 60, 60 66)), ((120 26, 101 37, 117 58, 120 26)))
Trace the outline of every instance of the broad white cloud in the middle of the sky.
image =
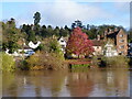
MULTIPOLYGON (((38 3, 37 9, 42 13, 42 23, 54 25, 72 24, 75 20, 92 21, 98 19, 110 19, 112 14, 92 3, 78 3, 72 0, 56 0, 54 3, 38 3)), ((36 8, 35 8, 36 9, 36 8)))

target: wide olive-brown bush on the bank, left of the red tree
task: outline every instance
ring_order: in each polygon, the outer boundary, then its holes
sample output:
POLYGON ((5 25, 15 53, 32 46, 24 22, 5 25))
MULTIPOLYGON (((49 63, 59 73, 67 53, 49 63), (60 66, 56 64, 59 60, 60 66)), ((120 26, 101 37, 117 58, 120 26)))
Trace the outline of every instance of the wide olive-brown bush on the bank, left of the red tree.
POLYGON ((26 59, 30 69, 61 69, 65 68, 64 57, 56 53, 36 52, 26 59))

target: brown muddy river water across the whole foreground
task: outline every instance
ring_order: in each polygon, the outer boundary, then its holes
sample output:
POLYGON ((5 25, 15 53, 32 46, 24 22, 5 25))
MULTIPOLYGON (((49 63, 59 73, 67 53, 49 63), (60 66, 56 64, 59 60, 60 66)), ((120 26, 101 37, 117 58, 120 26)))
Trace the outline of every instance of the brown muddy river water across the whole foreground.
POLYGON ((128 69, 74 69, 2 74, 3 97, 130 97, 128 69))

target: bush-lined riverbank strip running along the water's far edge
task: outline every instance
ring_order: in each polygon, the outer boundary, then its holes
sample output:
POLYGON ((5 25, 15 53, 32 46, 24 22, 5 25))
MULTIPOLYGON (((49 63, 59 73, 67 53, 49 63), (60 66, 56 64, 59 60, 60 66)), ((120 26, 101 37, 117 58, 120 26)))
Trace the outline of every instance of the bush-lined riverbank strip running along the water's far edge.
POLYGON ((54 53, 37 52, 30 57, 12 57, 3 54, 2 70, 64 70, 73 68, 128 68, 132 65, 132 58, 125 56, 97 57, 81 59, 65 59, 54 53))

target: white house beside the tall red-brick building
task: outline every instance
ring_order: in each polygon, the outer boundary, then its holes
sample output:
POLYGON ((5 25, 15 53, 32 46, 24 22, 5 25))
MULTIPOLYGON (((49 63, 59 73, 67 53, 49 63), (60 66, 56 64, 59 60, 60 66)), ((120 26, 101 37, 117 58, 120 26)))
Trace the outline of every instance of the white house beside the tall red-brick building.
POLYGON ((113 45, 113 44, 110 44, 110 43, 107 43, 107 44, 105 45, 103 54, 105 54, 105 56, 107 56, 107 57, 118 56, 118 52, 117 52, 117 50, 114 48, 114 45, 113 45))

